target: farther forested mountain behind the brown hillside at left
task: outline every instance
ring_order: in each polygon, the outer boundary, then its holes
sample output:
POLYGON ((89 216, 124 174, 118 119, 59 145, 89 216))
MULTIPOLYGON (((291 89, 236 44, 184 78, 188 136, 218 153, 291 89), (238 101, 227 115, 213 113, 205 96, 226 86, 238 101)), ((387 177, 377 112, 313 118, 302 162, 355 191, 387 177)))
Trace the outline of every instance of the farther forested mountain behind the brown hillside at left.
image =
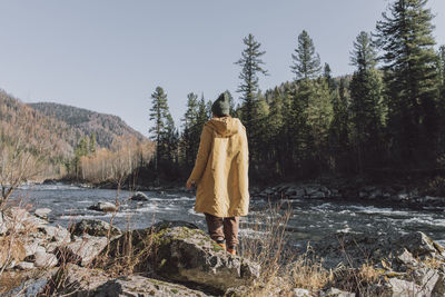
POLYGON ((47 117, 65 122, 73 130, 81 131, 85 136, 95 135, 97 143, 103 148, 110 148, 112 140, 118 136, 146 139, 117 116, 51 102, 29 103, 29 106, 47 117))

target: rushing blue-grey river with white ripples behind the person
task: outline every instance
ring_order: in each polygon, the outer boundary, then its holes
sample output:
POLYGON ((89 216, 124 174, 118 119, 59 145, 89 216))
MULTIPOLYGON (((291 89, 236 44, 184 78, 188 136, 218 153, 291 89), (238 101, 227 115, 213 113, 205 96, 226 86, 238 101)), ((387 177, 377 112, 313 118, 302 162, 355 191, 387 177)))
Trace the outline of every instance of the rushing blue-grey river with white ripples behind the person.
MULTIPOLYGON (((195 198, 187 194, 162 194, 145 191, 148 201, 131 201, 130 191, 119 194, 120 210, 113 218, 120 229, 145 228, 159 220, 186 220, 205 229, 204 216, 194 211, 195 198)), ((90 189, 68 185, 31 185, 16 191, 14 201, 32 208, 50 208, 51 224, 63 227, 81 219, 109 221, 112 214, 89 210, 98 201, 115 202, 116 190, 90 189)), ((240 220, 240 237, 260 235, 261 226, 267 228, 273 217, 269 204, 251 199, 250 214, 240 220), (258 222, 258 224, 256 224, 258 222)), ((340 200, 296 199, 284 201, 281 209, 290 209, 287 225, 288 235, 296 246, 317 241, 328 234, 375 232, 388 230, 402 232, 423 231, 445 245, 445 208, 409 209, 404 207, 375 206, 340 200)), ((284 211, 279 211, 283 215, 284 211)))

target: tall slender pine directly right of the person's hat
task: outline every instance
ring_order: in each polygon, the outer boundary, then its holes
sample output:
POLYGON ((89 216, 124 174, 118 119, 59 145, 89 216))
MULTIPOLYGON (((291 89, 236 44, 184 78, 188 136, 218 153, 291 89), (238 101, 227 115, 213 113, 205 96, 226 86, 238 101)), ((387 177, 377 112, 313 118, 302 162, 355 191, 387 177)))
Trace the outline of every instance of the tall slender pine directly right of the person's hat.
POLYGON ((257 42, 253 34, 243 39, 246 46, 245 50, 241 52, 241 58, 236 62, 241 67, 241 72, 239 73, 239 79, 241 83, 238 87, 238 92, 241 93, 241 116, 243 122, 247 130, 248 140, 251 140, 251 128, 254 126, 255 117, 255 103, 256 93, 258 91, 258 75, 267 75, 261 66, 264 65, 260 59, 266 51, 260 50, 261 43, 257 42))

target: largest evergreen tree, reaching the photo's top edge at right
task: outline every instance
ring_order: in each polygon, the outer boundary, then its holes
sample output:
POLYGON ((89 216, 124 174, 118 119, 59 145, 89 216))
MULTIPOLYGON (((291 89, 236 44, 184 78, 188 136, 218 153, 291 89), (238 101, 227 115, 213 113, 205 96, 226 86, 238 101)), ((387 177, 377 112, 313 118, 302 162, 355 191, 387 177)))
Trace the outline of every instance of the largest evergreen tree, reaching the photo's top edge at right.
POLYGON ((396 0, 377 22, 387 82, 389 129, 403 164, 427 160, 437 130, 433 14, 426 0, 396 0))

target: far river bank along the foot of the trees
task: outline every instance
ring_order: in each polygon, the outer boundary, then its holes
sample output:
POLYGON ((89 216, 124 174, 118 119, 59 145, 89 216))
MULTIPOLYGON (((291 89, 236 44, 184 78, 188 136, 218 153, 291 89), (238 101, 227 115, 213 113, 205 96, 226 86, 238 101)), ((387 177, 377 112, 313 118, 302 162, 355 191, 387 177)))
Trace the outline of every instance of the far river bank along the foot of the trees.
MULTIPOLYGON (((376 181, 369 178, 320 178, 306 181, 274 182, 274 185, 251 185, 253 199, 326 199, 346 201, 369 201, 383 206, 406 206, 413 208, 445 207, 445 195, 441 178, 408 179, 394 178, 376 181)), ((44 180, 43 185, 67 182, 98 189, 125 189, 130 191, 181 192, 194 195, 181 182, 162 185, 123 182, 86 184, 72 180, 44 180)))

